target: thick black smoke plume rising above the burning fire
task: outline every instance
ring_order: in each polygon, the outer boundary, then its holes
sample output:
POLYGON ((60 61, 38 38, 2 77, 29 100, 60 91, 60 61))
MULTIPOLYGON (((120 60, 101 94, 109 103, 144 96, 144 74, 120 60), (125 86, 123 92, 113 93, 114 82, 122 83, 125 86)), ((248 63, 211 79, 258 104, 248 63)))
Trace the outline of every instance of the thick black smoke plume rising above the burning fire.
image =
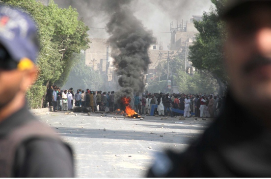
POLYGON ((112 47, 111 56, 117 68, 119 85, 132 88, 135 92, 144 90, 144 73, 147 72, 150 59, 148 49, 156 40, 152 31, 146 30, 135 18, 129 6, 114 2, 114 13, 107 24, 110 35, 108 42, 112 47))

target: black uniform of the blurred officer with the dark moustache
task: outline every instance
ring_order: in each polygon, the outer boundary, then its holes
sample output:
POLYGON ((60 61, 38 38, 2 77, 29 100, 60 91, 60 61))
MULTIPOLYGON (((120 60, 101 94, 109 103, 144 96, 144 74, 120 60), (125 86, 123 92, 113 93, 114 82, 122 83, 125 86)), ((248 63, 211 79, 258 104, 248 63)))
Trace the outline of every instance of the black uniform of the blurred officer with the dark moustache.
POLYGON ((184 153, 156 158, 148 177, 271 177, 271 133, 229 94, 225 109, 184 153))

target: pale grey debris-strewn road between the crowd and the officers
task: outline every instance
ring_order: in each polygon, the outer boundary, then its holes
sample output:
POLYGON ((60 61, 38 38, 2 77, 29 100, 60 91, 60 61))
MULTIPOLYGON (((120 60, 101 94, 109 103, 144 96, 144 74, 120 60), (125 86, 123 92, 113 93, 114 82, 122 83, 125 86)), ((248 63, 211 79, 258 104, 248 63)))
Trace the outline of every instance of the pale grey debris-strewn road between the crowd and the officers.
POLYGON ((145 177, 156 152, 185 150, 212 122, 201 118, 161 120, 155 116, 139 120, 76 112, 45 112, 36 116, 72 146, 77 178, 145 177))

